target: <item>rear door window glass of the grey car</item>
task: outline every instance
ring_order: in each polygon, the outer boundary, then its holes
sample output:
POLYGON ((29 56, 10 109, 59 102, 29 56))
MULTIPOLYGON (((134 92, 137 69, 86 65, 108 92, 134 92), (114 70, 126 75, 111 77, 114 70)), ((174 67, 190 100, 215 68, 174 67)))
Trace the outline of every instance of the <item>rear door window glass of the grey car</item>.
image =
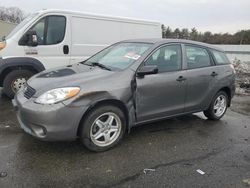
POLYGON ((188 69, 211 66, 210 56, 205 48, 186 45, 185 49, 188 69))

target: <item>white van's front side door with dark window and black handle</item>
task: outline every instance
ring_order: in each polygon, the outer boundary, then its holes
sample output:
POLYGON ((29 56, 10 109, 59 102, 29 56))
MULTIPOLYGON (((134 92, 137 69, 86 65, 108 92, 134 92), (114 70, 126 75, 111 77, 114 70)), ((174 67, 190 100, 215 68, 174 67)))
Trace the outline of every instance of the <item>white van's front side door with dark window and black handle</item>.
POLYGON ((65 15, 40 18, 29 31, 35 31, 37 46, 24 45, 26 57, 38 59, 45 68, 68 65, 70 62, 70 21, 65 15))

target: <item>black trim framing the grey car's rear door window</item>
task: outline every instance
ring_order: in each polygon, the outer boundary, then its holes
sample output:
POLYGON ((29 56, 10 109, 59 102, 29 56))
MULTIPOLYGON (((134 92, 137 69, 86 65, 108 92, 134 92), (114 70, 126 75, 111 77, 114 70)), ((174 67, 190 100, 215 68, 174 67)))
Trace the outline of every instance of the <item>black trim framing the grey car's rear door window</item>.
POLYGON ((185 56, 186 70, 202 69, 202 68, 212 67, 212 66, 215 65, 214 59, 212 57, 212 54, 211 54, 209 48, 206 47, 206 46, 197 45, 197 44, 191 44, 191 43, 184 43, 184 52, 183 52, 183 54, 185 54, 184 56, 185 56), (209 56, 210 65, 209 66, 204 66, 204 67, 188 68, 187 57, 186 57, 187 56, 187 54, 186 54, 186 47, 187 46, 204 49, 207 52, 208 56, 209 56))

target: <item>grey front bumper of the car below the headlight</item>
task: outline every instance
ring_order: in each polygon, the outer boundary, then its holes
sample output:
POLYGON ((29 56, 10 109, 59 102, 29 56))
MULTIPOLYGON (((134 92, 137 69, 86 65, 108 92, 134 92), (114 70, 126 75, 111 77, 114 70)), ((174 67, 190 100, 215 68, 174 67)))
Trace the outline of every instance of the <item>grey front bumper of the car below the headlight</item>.
POLYGON ((46 141, 77 138, 80 120, 87 107, 69 107, 63 103, 41 105, 18 92, 12 100, 21 128, 28 134, 46 141))

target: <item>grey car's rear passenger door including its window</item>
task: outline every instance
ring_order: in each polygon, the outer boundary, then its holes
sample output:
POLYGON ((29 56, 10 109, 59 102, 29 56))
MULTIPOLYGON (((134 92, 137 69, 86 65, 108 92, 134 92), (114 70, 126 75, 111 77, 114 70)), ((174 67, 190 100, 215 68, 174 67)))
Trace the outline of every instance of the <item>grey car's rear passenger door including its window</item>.
POLYGON ((205 47, 185 45, 184 56, 187 69, 185 112, 204 110, 209 105, 216 86, 216 67, 205 47))

